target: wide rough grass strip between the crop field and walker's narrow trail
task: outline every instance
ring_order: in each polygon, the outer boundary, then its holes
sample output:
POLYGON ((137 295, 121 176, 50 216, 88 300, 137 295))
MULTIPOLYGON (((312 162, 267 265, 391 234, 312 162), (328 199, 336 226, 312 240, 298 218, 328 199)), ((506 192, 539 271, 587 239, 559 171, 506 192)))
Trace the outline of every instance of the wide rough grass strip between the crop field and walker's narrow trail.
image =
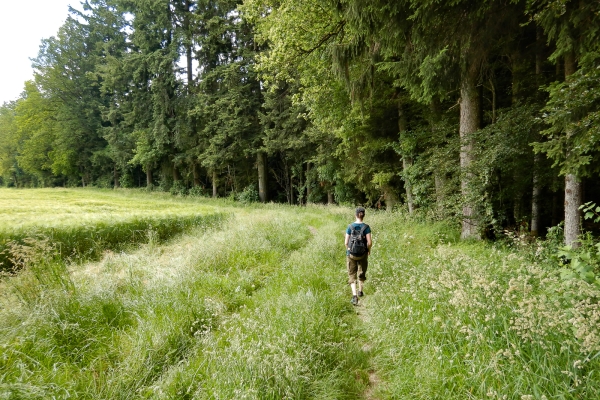
POLYGON ((9 286, 29 296, 0 310, 0 398, 360 398, 343 221, 236 209, 219 229, 73 265, 67 289, 23 272, 9 286))

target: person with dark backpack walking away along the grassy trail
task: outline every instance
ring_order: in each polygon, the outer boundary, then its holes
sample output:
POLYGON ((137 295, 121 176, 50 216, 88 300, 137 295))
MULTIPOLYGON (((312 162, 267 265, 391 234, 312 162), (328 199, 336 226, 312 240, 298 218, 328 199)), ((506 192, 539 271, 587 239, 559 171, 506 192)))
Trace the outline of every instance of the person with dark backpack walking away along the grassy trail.
POLYGON ((365 209, 356 209, 356 221, 348 225, 344 244, 346 246, 346 266, 348 267, 348 283, 352 288, 353 305, 358 305, 358 298, 364 295, 363 285, 367 279, 367 267, 371 254, 371 227, 363 222, 365 209), (358 292, 356 281, 358 278, 358 292))

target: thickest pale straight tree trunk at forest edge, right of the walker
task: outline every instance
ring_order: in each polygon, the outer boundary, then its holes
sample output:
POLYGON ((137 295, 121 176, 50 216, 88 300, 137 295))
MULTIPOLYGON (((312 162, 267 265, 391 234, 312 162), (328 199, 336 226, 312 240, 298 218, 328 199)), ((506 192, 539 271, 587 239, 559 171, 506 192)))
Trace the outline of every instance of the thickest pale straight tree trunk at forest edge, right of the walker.
POLYGON ((480 238, 474 204, 469 199, 469 184, 472 179, 470 172, 473 162, 473 139, 471 134, 479 130, 479 96, 477 79, 479 78, 479 62, 468 60, 460 84, 460 169, 461 192, 463 196, 463 222, 461 238, 480 238))

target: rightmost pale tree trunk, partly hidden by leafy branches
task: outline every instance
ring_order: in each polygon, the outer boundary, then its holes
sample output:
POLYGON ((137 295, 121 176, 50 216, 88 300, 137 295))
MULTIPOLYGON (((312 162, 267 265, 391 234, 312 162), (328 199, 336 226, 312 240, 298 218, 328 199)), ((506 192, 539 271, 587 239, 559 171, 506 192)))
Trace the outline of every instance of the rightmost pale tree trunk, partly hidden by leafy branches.
MULTIPOLYGON (((565 78, 576 71, 575 54, 571 51, 565 54, 565 78)), ((569 132, 566 132, 567 136, 569 132)), ((581 182, 577 175, 565 175, 565 244, 573 248, 579 247, 579 219, 581 206, 581 182)))

